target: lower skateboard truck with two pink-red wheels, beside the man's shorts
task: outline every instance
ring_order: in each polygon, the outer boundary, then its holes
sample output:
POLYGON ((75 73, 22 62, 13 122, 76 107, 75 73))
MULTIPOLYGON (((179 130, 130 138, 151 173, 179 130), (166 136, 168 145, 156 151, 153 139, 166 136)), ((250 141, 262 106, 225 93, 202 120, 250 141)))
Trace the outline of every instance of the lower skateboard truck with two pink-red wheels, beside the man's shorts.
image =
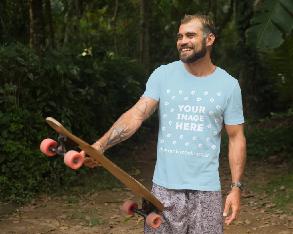
POLYGON ((137 203, 128 200, 123 205, 123 211, 129 215, 134 215, 135 213, 145 218, 145 222, 151 228, 158 228, 162 222, 161 216, 154 213, 156 207, 149 202, 147 199, 142 198, 142 209, 138 209, 137 203))

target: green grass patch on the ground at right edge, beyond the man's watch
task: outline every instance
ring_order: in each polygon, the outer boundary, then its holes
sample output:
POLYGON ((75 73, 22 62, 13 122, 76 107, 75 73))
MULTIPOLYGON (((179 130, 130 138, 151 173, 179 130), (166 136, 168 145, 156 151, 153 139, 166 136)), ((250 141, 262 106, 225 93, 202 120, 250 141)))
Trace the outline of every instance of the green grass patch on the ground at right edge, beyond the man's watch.
MULTIPOLYGON (((269 212, 274 212, 275 209, 285 207, 284 212, 291 212, 293 204, 293 173, 285 176, 274 176, 271 182, 266 183, 263 188, 259 188, 259 185, 253 184, 248 187, 251 191, 262 194, 266 193, 270 200, 270 203, 275 203, 274 209, 267 209, 269 212), (284 186, 285 190, 281 190, 280 187, 284 186), (290 207, 291 204, 291 207, 290 207), (286 211, 289 210, 289 211, 286 211)), ((265 207, 266 204, 262 200, 258 202, 259 205, 265 207)))

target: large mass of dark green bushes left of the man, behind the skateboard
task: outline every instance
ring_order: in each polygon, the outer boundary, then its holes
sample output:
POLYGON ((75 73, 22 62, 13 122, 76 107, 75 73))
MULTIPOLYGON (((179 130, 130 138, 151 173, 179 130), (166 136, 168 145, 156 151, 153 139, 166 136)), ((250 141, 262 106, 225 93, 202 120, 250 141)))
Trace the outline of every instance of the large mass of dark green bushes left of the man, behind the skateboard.
MULTIPOLYGON (((95 49, 81 56, 79 49, 57 47, 44 49, 45 56, 38 57, 17 43, 0 51, 0 197, 12 195, 22 203, 61 186, 65 190, 83 184, 88 190, 90 181, 80 178, 89 168, 75 171, 61 157, 40 152, 42 140, 57 139, 44 119, 51 116, 86 142, 96 141, 142 95, 146 80, 140 66, 95 49)), ((134 140, 124 145, 130 149, 134 140)), ((107 172, 96 177, 97 188, 120 185, 107 172)))

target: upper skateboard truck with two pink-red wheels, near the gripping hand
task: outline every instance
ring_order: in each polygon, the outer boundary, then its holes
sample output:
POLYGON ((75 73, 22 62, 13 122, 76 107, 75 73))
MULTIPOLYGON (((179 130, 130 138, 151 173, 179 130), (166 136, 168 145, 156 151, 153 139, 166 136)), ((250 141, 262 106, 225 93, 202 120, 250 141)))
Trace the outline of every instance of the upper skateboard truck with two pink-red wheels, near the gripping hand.
POLYGON ((80 168, 84 161, 83 156, 79 152, 69 150, 70 148, 77 147, 78 144, 61 133, 59 133, 57 139, 58 142, 50 138, 43 140, 40 150, 47 156, 54 156, 56 154, 62 156, 65 165, 72 169, 80 168))

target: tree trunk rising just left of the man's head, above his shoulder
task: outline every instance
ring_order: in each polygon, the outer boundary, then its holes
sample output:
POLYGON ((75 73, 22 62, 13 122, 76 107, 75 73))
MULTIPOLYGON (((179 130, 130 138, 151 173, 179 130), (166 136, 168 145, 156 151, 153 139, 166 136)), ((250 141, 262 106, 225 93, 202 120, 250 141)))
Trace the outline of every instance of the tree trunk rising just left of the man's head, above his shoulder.
POLYGON ((149 12, 150 1, 140 0, 139 62, 149 73, 149 12))

